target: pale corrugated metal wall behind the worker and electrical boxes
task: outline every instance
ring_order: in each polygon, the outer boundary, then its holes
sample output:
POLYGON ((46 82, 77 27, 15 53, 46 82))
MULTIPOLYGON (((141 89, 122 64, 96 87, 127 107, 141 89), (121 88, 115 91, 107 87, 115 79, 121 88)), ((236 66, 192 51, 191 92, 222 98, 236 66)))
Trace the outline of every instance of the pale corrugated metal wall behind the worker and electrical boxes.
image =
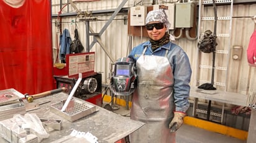
MULTIPOLYGON (((52 14, 58 14, 60 11, 60 1, 52 1, 52 14)), ((107 9, 116 9, 119 4, 121 4, 121 0, 101 0, 94 2, 75 2, 78 9, 81 11, 99 11, 99 10, 107 10, 107 9)), ((127 1, 124 7, 131 7, 134 5, 136 1, 127 1)), ((144 4, 150 4, 151 1, 144 1, 144 4)), ((64 1, 63 1, 64 3, 64 1)), ((148 5, 149 6, 149 5, 148 5)), ((213 7, 205 7, 204 11, 208 12, 208 14, 213 15, 211 13, 211 9, 213 7)), ((230 7, 226 6, 217 6, 217 12, 219 15, 229 15, 230 7)), ((234 60, 231 56, 229 58, 221 58, 216 56, 217 64, 225 64, 229 61, 229 68, 227 71, 227 91, 229 92, 238 92, 243 94, 248 94, 255 92, 256 87, 254 86, 256 83, 256 70, 255 67, 249 67, 247 64, 247 46, 249 45, 250 35, 254 31, 254 22, 249 17, 252 17, 256 14, 256 4, 237 4, 234 5, 233 11, 233 19, 232 19, 232 35, 231 35, 231 53, 232 54, 232 46, 239 45, 242 46, 242 59, 234 60), (219 59, 218 59, 219 58, 219 59)), ((62 10, 62 14, 75 12, 73 8, 69 5, 62 10), (69 8, 69 10, 68 10, 69 8)), ((107 20, 111 17, 111 15, 98 15, 96 18, 98 20, 89 22, 91 28, 93 28, 94 32, 99 32, 101 28, 106 24, 107 20)), ((112 58, 118 59, 124 56, 127 56, 131 47, 140 44, 142 41, 147 40, 145 37, 129 37, 128 36, 128 28, 127 28, 127 14, 117 15, 114 20, 112 20, 111 24, 106 28, 106 31, 101 35, 101 40, 103 41, 103 45, 106 50, 109 51, 112 58)), ((60 33, 58 32, 58 28, 55 27, 55 20, 53 18, 53 50, 55 54, 53 58, 56 58, 56 49, 58 45, 58 37, 60 33)), ((73 38, 73 33, 75 30, 75 17, 62 17, 62 30, 67 28, 70 30, 71 37, 73 38)), ((213 21, 212 21, 213 22, 213 21)), ((211 23, 213 25, 213 23, 211 23)), ((217 25, 219 33, 226 30, 224 24, 217 25)), ((85 22, 78 22, 78 32, 80 34, 80 39, 83 45, 86 45, 86 28, 85 22)), ((93 37, 90 36, 90 43, 93 41, 93 37)), ((191 41, 186 38, 181 38, 179 40, 174 41, 186 51, 190 58, 191 66, 193 69, 191 85, 198 85, 198 48, 197 48, 197 40, 191 41)), ((226 41, 218 41, 218 45, 225 45, 226 41)), ((108 58, 107 54, 104 52, 103 48, 96 43, 91 51, 96 52, 96 65, 95 71, 103 72, 103 84, 107 84, 107 77, 109 73, 109 64, 111 60, 108 58)), ((204 54, 201 55, 201 61, 204 61, 207 64, 211 65, 212 55, 204 54)), ((216 78, 222 78, 226 74, 221 74, 217 72, 215 74, 216 78), (219 77, 218 77, 219 76, 219 77)), ((211 72, 203 72, 199 77, 204 77, 207 80, 211 80, 211 72)))

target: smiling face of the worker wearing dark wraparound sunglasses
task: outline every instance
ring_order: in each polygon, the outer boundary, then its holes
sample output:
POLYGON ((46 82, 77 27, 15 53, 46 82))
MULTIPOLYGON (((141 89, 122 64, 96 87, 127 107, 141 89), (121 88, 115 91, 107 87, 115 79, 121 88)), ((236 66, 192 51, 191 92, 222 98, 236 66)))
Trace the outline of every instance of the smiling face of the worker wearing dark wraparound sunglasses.
POLYGON ((149 34, 149 38, 155 41, 160 40, 165 35, 165 32, 167 30, 167 27, 165 27, 165 24, 157 21, 149 22, 149 24, 146 25, 146 28, 147 28, 147 33, 149 34))

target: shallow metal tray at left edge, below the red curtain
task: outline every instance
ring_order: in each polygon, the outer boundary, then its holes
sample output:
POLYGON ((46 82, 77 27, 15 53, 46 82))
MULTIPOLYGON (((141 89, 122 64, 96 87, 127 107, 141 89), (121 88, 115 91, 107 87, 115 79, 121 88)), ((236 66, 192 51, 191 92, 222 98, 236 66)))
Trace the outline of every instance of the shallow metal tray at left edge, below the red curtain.
POLYGON ((0 90, 0 105, 16 102, 25 96, 15 89, 0 90))

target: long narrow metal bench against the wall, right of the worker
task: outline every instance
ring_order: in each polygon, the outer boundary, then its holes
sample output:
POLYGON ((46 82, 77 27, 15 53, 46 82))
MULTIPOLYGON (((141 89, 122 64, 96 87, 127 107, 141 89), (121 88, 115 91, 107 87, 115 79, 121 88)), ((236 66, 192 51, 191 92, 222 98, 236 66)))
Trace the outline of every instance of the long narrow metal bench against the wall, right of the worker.
POLYGON ((196 115, 196 110, 198 108, 198 99, 211 100, 214 102, 222 103, 222 113, 221 115, 219 115, 221 116, 221 123, 223 122, 225 103, 239 106, 249 105, 247 95, 234 92, 224 92, 220 90, 204 90, 198 89, 197 87, 191 87, 190 97, 194 98, 192 116, 196 115))

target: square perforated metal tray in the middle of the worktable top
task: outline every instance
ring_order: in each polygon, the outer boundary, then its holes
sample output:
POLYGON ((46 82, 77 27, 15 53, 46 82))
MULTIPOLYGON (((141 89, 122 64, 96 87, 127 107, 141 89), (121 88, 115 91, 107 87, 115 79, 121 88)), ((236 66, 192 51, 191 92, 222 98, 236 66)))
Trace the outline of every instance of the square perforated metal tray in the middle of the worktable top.
POLYGON ((97 111, 95 105, 91 105, 88 102, 85 102, 84 100, 75 97, 70 100, 66 111, 61 111, 65 102, 66 100, 62 100, 60 102, 52 104, 50 106, 50 111, 71 122, 97 111))

